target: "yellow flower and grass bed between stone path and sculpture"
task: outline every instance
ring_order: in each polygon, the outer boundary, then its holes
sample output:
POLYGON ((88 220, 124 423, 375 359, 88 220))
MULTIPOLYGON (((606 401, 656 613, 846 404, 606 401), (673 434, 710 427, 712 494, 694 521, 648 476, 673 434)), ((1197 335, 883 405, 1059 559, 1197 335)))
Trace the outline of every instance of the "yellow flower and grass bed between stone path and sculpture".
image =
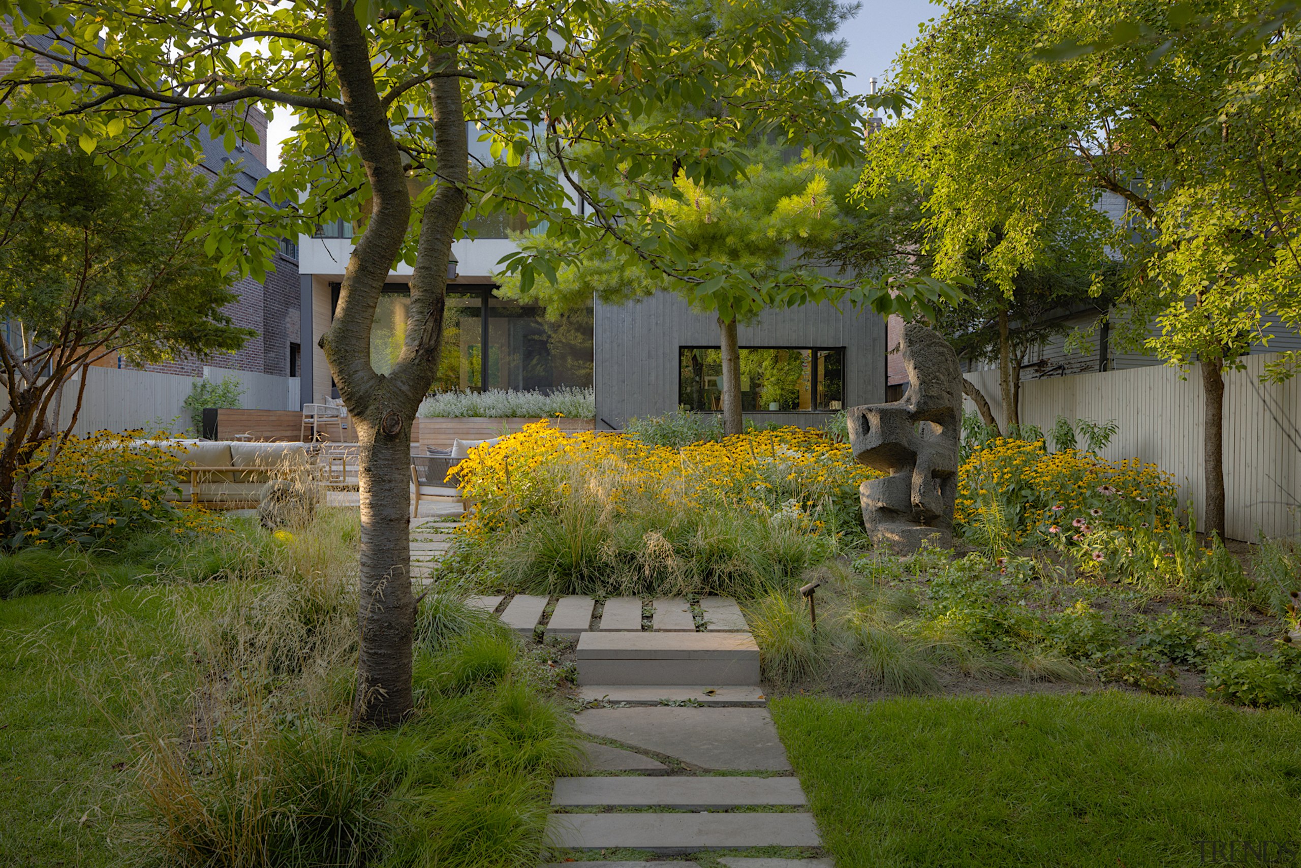
POLYGON ((816 431, 680 449, 527 426, 458 465, 475 506, 444 579, 546 593, 753 597, 861 543, 872 474, 816 431))

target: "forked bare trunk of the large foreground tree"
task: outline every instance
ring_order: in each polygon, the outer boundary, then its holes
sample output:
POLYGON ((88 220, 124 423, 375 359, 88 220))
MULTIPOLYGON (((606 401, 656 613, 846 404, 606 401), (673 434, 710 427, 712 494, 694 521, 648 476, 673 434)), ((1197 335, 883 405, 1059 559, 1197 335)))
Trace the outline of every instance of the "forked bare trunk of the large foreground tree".
MULTIPOLYGON (((411 424, 438 373, 451 242, 466 206, 468 143, 461 79, 435 77, 437 189, 424 207, 411 272, 406 338, 393 370, 371 366, 371 328, 389 268, 411 217, 406 168, 371 69, 369 46, 354 7, 327 0, 330 57, 345 120, 371 185, 371 216, 340 284, 334 321, 321 349, 356 424, 362 501, 360 593, 355 724, 390 726, 414 708, 411 690, 415 597, 410 579, 411 424)), ((429 69, 455 65, 455 35, 427 30, 429 69)))

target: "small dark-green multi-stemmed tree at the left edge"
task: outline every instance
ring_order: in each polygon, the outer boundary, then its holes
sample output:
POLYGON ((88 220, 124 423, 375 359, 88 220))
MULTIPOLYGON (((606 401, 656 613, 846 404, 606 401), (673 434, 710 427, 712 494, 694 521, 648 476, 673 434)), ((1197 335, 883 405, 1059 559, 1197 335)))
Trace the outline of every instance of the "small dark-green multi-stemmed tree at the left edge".
POLYGON ((189 165, 111 173, 49 142, 25 156, 0 150, 0 321, 9 323, 0 334, 0 423, 9 428, 0 521, 23 485, 25 457, 75 424, 88 366, 113 354, 144 363, 234 351, 252 336, 222 310, 237 298, 229 276, 190 237, 238 195, 232 174, 189 165))

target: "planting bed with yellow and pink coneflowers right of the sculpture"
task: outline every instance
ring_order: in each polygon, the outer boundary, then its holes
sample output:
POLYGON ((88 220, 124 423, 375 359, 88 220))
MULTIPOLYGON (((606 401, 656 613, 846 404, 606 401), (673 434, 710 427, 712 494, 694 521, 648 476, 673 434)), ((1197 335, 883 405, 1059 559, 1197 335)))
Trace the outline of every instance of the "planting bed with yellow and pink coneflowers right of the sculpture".
MULTIPOLYGON (((814 631, 792 587, 748 605, 766 677, 840 695, 1110 682, 1301 704, 1296 547, 1246 565, 1200 539, 1158 468, 991 439, 963 462, 968 552, 824 565, 814 631)), ((1015 687, 1013 687, 1015 688, 1015 687)))

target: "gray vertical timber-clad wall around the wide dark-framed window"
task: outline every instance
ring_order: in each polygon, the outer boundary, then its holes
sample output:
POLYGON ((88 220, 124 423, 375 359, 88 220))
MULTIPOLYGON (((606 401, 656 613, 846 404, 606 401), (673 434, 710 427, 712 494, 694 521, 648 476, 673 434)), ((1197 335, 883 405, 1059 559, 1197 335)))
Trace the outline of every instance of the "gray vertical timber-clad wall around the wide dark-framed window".
MULTIPOLYGON (((678 409, 678 349, 718 346, 718 323, 670 293, 628 305, 596 305, 596 427, 678 409)), ((740 346, 843 346, 844 406, 885 401, 886 324, 870 311, 809 305, 768 311, 738 329, 740 346)), ((830 414, 747 413, 756 424, 818 424, 830 414)))

